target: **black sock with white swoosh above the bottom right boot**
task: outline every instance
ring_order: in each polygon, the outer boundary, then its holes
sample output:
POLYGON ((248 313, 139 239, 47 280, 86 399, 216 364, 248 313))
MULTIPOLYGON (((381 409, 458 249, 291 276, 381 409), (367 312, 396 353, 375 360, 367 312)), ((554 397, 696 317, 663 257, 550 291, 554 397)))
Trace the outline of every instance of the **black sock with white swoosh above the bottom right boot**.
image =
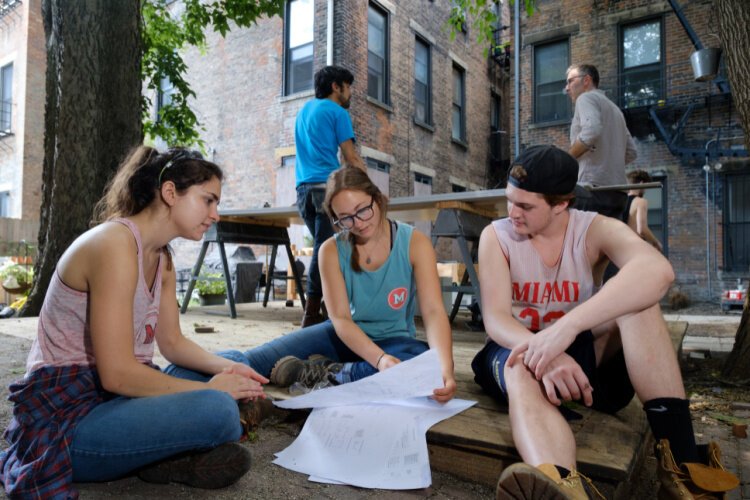
POLYGON ((699 461, 687 399, 656 398, 643 403, 643 410, 654 439, 669 441, 677 465, 699 461))

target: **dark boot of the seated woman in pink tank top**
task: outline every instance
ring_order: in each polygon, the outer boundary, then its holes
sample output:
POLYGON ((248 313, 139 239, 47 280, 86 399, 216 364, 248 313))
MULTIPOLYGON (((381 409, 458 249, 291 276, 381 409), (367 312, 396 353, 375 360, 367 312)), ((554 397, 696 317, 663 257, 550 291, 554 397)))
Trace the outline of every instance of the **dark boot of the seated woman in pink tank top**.
POLYGON ((216 489, 234 484, 250 470, 250 451, 239 443, 225 443, 208 451, 191 451, 148 465, 138 472, 147 483, 182 483, 216 489))

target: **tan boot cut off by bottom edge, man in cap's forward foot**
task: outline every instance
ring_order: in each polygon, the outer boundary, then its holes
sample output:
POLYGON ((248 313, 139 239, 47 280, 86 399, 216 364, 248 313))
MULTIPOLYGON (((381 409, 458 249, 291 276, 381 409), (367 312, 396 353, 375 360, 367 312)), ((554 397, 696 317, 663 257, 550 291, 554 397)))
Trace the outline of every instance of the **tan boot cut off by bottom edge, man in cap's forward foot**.
POLYGON ((506 468, 500 475, 495 491, 496 500, 589 500, 604 498, 589 478, 577 471, 568 477, 552 464, 532 467, 519 462, 506 468))

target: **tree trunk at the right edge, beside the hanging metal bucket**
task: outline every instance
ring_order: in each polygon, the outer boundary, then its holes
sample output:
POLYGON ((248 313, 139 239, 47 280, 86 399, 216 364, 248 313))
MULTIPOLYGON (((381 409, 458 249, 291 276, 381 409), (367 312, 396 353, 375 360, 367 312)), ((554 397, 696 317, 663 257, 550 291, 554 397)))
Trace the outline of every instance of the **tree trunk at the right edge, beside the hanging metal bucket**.
MULTIPOLYGON (((737 106, 742 130, 745 131, 745 148, 750 150, 750 2, 716 0, 715 7, 732 99, 737 106)), ((750 380, 750 312, 747 300, 722 376, 733 380, 750 380)))

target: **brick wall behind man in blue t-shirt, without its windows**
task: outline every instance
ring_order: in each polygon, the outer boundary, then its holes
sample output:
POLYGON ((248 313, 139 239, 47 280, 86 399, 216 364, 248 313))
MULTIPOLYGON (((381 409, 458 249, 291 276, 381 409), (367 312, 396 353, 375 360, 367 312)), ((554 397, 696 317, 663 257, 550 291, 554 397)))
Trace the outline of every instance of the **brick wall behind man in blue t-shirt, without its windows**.
MULTIPOLYGON (((451 42, 445 28, 450 0, 384 1, 389 12, 390 102, 367 98, 367 0, 337 0, 334 11, 334 64, 354 74, 350 114, 357 147, 392 158, 390 194, 414 194, 410 165, 435 170, 433 193, 451 191, 449 178, 485 187, 490 132, 490 78, 483 47, 469 30, 451 42), (414 124, 414 40, 419 32, 432 44, 433 130, 414 124), (453 63, 466 70, 468 146, 451 140, 453 63)), ((326 7, 315 2, 314 70, 326 63, 326 7)), ((294 120, 312 93, 283 96, 284 21, 261 20, 235 29, 226 39, 212 34, 205 55, 187 52, 195 108, 206 128, 214 161, 227 174, 222 208, 274 204, 281 155, 293 154, 294 120)), ((507 77, 506 77, 507 78, 507 77)), ((496 81, 502 94, 505 82, 496 81)), ((182 244, 178 267, 189 266, 197 245, 182 244)))

